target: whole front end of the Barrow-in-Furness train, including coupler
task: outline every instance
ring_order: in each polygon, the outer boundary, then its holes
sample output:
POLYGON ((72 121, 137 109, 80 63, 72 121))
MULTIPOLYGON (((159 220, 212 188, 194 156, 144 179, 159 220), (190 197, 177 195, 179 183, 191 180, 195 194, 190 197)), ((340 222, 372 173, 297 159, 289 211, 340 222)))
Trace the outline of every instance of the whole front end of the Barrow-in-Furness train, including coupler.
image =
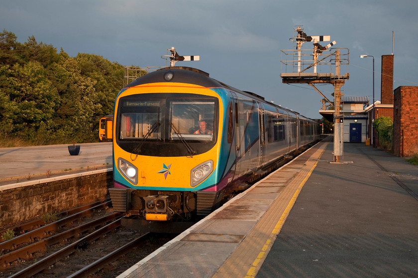
POLYGON ((147 220, 190 219, 220 202, 224 107, 217 89, 153 82, 115 102, 113 208, 147 220))

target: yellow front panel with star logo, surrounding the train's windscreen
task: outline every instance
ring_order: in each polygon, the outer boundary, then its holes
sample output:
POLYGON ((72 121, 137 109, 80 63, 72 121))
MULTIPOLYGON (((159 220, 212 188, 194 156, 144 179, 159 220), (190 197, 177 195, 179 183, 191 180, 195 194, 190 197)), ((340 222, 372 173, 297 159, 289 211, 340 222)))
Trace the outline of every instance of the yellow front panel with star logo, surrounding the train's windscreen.
MULTIPOLYGON (((171 83, 170 85, 167 83, 151 83, 128 88, 116 99, 116 107, 118 107, 118 102, 121 97, 142 93, 193 93, 204 96, 213 96, 218 99, 219 114, 223 114, 222 101, 213 90, 198 85, 183 83, 171 83)), ((115 117, 117 117, 117 115, 115 115, 115 117)), ((115 124, 117 121, 118 120, 115 118, 113 123, 115 124)), ((218 121, 217 130, 222 131, 221 120, 218 121)), ((158 188, 158 190, 164 188, 193 189, 197 185, 191 186, 192 169, 209 160, 212 163, 212 169, 216 168, 217 155, 220 148, 220 133, 218 134, 216 142, 211 149, 201 154, 188 156, 137 155, 123 150, 117 143, 114 143, 114 163, 117 164, 118 159, 122 158, 137 168, 137 183, 134 184, 133 182, 129 182, 130 187, 132 188, 158 188)), ((115 134, 114 137, 116 137, 115 134)), ((116 168, 120 172, 119 167, 116 168)), ((123 176, 122 173, 120 174, 123 176)), ((127 179, 127 181, 129 180, 127 179)))

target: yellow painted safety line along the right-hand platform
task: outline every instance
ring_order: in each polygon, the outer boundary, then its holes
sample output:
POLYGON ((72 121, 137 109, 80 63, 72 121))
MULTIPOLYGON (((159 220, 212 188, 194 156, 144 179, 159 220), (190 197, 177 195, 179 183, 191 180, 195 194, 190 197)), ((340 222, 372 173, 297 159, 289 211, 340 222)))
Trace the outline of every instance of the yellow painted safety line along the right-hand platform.
POLYGON ((292 199, 290 200, 288 206, 286 207, 285 211, 282 213, 282 216, 280 216, 279 221, 277 222, 276 226, 274 227, 274 229, 271 232, 271 239, 267 239, 266 243, 264 244, 264 246, 261 248, 261 252, 258 254, 257 258, 254 260, 254 262, 252 263, 252 267, 250 267, 250 269, 247 272, 247 275, 245 276, 245 278, 253 278, 257 275, 258 270, 257 267, 261 266, 261 264, 264 262, 264 260, 266 259, 266 254, 268 254, 268 251, 271 249, 271 244, 274 242, 274 240, 276 239, 277 235, 279 234, 280 230, 283 227, 283 224, 286 221, 287 216, 289 215, 290 210, 293 208, 293 205, 295 205, 296 199, 299 196, 299 193, 301 192, 302 188, 304 187, 306 181, 309 179, 309 177, 311 176, 312 172, 314 171, 316 164, 318 164, 318 162, 316 161, 314 163, 314 166, 311 168, 311 170, 309 171, 309 173, 307 174, 307 176, 305 177, 305 179, 301 182, 301 184, 299 185, 298 189, 296 190, 295 194, 293 194, 292 199), (261 264, 260 264, 261 263, 261 264))

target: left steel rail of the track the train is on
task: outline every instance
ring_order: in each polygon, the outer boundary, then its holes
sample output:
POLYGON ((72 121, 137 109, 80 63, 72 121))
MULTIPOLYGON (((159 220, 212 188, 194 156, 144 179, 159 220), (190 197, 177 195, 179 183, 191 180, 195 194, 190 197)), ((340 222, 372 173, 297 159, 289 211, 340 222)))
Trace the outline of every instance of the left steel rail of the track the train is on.
MULTIPOLYGON (((121 217, 122 218, 122 217, 121 217)), ((97 240, 102 235, 108 233, 111 230, 114 230, 115 228, 120 226, 120 219, 117 219, 106 226, 98 229, 97 231, 77 240, 76 242, 73 242, 72 244, 64 247, 63 249, 55 252, 54 254, 49 255, 48 257, 36 262, 33 265, 30 265, 29 267, 13 274, 12 276, 9 276, 8 278, 30 278, 41 271, 43 271, 45 268, 47 268, 50 265, 53 265, 57 263, 59 260, 61 260, 63 257, 69 256, 70 254, 76 252, 77 248, 79 246, 83 246, 85 244, 91 243, 95 240, 97 240)))

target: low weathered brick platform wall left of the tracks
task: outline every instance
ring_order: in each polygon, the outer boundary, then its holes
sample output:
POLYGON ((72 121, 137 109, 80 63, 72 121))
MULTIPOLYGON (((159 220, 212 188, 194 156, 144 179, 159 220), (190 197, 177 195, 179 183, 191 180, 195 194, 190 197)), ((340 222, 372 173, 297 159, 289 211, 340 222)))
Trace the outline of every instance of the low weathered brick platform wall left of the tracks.
POLYGON ((0 187, 0 230, 45 212, 60 212, 104 200, 113 176, 112 171, 93 171, 35 182, 0 187))

